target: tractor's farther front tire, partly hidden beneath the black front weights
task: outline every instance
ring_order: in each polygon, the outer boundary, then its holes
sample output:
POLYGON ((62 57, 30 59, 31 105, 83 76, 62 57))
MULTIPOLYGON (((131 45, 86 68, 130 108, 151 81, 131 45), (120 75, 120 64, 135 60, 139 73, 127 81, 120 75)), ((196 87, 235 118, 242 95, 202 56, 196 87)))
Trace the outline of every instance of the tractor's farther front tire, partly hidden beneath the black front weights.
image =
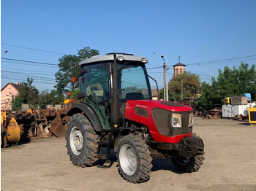
POLYGON ((179 171, 192 173, 199 170, 201 165, 203 165, 204 159, 203 155, 196 155, 193 157, 174 156, 172 157, 172 163, 179 171))

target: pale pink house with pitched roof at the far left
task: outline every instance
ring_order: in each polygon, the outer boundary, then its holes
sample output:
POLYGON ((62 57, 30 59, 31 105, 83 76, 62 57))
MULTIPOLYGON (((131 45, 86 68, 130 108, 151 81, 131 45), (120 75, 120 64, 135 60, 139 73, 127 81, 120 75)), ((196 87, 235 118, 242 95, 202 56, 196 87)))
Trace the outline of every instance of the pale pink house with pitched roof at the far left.
POLYGON ((12 100, 19 94, 21 87, 18 82, 15 84, 8 82, 1 88, 1 111, 12 110, 12 100))

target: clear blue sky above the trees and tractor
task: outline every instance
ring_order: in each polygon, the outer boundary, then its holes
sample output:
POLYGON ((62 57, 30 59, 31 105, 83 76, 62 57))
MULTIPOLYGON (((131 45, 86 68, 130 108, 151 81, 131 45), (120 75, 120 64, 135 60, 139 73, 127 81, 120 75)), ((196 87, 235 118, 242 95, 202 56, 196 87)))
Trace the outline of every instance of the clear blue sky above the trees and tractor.
POLYGON ((148 58, 160 88, 161 55, 168 80, 180 56, 209 83, 225 66, 256 65, 255 10, 255 0, 1 0, 1 87, 32 77, 53 90, 59 58, 83 47, 148 58))

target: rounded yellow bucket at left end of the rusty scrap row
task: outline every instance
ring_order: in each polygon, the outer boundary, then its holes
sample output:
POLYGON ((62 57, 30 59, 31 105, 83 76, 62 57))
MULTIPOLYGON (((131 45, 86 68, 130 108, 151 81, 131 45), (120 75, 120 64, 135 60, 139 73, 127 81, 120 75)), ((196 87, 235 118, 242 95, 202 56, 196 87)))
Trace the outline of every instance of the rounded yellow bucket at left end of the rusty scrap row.
POLYGON ((14 117, 7 122, 7 140, 10 144, 18 144, 20 141, 20 128, 14 117))

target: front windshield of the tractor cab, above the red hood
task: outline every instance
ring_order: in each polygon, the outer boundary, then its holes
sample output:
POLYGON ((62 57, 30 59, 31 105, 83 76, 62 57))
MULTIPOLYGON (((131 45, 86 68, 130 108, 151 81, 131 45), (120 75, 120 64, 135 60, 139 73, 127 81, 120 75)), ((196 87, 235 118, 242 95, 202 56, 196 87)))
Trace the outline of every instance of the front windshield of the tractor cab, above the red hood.
POLYGON ((118 64, 118 89, 120 100, 149 99, 150 87, 144 71, 145 66, 138 64, 118 64))

